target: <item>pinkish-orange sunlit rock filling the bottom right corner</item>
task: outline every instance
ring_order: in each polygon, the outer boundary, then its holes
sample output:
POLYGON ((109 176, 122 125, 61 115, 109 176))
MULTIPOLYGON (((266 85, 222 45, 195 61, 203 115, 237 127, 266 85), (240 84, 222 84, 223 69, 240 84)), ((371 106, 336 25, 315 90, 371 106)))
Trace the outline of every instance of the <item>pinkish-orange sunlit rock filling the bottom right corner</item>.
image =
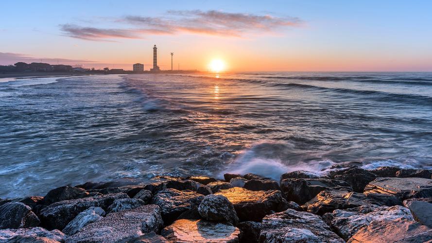
POLYGON ((390 222, 374 220, 367 226, 359 229, 348 242, 424 243, 430 242, 431 240, 431 228, 422 226, 414 220, 401 218, 390 222))

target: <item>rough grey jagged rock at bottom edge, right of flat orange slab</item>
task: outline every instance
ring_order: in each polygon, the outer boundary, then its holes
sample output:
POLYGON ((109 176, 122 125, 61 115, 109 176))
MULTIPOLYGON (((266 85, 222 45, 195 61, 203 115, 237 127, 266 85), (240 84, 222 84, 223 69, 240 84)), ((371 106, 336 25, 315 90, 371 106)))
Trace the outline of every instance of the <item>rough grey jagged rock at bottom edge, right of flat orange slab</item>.
POLYGON ((321 217, 294 209, 265 216, 259 242, 345 243, 321 217))

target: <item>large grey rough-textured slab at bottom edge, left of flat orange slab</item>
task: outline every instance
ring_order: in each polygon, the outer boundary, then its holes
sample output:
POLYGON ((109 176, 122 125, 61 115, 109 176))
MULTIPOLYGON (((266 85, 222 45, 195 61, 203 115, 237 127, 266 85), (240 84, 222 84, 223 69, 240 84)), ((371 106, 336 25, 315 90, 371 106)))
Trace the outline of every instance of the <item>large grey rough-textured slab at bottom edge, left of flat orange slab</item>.
POLYGON ((139 208, 108 213, 104 218, 81 228, 66 243, 114 243, 136 238, 143 233, 157 232, 163 225, 160 208, 145 205, 139 208))

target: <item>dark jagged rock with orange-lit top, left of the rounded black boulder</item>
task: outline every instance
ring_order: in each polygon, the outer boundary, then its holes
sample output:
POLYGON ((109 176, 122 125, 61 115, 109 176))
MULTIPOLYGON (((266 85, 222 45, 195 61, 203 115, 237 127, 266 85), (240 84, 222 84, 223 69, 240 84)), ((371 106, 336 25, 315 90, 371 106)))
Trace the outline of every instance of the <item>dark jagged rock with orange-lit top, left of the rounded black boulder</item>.
POLYGON ((157 193, 152 200, 161 208, 161 214, 165 224, 173 222, 182 212, 198 207, 204 196, 192 191, 178 191, 167 189, 157 193))

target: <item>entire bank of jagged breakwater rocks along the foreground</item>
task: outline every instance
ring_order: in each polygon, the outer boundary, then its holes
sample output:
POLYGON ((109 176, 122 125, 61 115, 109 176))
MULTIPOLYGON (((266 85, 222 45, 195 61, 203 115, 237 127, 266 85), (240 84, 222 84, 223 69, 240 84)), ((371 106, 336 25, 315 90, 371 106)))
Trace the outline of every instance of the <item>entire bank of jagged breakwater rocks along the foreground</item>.
POLYGON ((0 242, 430 242, 432 173, 156 176, 0 199, 0 242))

